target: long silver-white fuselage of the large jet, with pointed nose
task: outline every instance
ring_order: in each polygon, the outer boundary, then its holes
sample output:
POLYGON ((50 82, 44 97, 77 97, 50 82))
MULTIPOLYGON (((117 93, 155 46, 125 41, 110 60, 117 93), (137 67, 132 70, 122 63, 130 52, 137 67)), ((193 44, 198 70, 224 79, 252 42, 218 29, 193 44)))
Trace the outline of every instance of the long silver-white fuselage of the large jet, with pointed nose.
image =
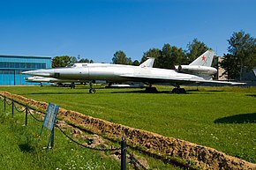
POLYGON ((108 82, 152 82, 166 83, 170 80, 184 81, 187 79, 203 79, 198 76, 177 73, 175 70, 158 68, 141 68, 138 66, 109 64, 109 63, 87 63, 79 68, 57 68, 46 70, 26 71, 26 74, 34 76, 72 79, 72 80, 106 80, 108 82))

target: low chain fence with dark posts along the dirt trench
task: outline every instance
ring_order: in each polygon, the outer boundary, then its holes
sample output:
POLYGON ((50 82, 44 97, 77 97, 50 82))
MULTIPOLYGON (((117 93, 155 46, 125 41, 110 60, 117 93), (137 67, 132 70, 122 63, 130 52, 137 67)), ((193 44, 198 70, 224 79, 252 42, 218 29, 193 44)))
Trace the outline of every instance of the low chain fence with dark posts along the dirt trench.
MULTIPOLYGON (((0 100, 4 101, 4 113, 6 111, 6 104, 8 106, 11 106, 11 115, 12 115, 12 117, 14 116, 14 108, 19 113, 24 113, 25 112, 26 113, 25 125, 27 125, 28 115, 31 115, 31 117, 37 122, 43 122, 43 120, 40 120, 40 119, 36 118, 34 116, 34 114, 31 112, 31 110, 34 110, 34 112, 38 112, 38 113, 41 113, 41 114, 44 114, 43 112, 41 112, 39 110, 36 110, 33 107, 29 107, 27 104, 24 105, 24 104, 19 103, 16 100, 9 99, 9 98, 7 98, 6 96, 4 96, 2 94, 0 94, 0 100)), ((127 157, 126 153, 128 153, 130 162, 134 166, 135 169, 147 170, 147 167, 143 166, 139 162, 139 160, 134 157, 133 153, 127 151, 127 145, 126 145, 126 141, 125 141, 124 137, 122 138, 121 147, 119 147, 119 148, 112 148, 112 146, 111 146, 111 148, 96 148, 96 147, 91 147, 89 145, 79 143, 74 138, 67 135, 67 133, 64 132, 64 129, 62 129, 59 125, 55 124, 55 127, 57 129, 59 129, 60 132, 62 132, 62 134, 64 134, 65 137, 69 138, 74 144, 78 144, 81 147, 91 149, 91 150, 95 150, 95 151, 102 151, 102 152, 121 151, 121 170, 126 169, 126 157, 127 157)))

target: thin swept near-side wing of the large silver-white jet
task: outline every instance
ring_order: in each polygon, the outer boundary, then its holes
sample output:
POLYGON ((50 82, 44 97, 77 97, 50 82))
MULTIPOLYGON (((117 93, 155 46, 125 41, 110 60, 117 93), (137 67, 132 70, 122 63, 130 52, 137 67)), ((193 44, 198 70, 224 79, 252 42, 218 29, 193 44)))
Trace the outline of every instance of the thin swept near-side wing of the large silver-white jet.
POLYGON ((228 81, 216 81, 216 80, 206 80, 204 78, 180 78, 180 77, 156 77, 149 75, 121 75, 123 78, 131 78, 131 80, 137 80, 140 82, 149 83, 177 83, 180 85, 185 84, 200 84, 200 83, 213 83, 213 84, 223 84, 223 85, 245 85, 245 83, 228 82, 228 81))

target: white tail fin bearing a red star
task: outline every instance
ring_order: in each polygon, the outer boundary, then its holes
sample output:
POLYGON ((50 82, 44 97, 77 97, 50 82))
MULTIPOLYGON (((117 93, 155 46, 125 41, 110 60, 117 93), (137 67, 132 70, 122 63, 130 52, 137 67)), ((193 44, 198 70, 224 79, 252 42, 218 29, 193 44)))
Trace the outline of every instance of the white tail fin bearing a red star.
POLYGON ((204 54, 200 55, 197 59, 195 59, 189 65, 200 65, 211 67, 214 59, 215 51, 209 49, 204 54))

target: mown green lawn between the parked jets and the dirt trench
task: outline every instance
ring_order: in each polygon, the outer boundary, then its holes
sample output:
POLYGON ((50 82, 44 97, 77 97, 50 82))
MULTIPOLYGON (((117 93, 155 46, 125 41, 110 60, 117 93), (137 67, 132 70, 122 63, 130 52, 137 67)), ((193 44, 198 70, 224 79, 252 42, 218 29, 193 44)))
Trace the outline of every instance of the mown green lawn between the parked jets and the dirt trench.
POLYGON ((56 86, 0 87, 27 98, 54 102, 60 107, 146 129, 166 137, 213 147, 256 163, 256 88, 187 87, 186 94, 172 94, 169 86, 159 92, 140 89, 105 89, 90 94, 56 86))

